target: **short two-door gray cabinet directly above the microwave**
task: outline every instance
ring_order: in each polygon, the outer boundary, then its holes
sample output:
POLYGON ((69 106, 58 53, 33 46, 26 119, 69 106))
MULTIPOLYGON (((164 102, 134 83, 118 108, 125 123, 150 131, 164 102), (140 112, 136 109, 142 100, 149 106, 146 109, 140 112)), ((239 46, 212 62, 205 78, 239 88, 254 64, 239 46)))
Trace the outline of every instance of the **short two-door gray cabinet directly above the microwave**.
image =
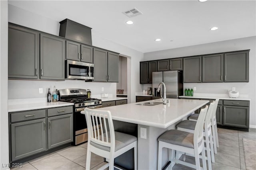
POLYGON ((93 47, 66 41, 66 59, 93 63, 93 47))

